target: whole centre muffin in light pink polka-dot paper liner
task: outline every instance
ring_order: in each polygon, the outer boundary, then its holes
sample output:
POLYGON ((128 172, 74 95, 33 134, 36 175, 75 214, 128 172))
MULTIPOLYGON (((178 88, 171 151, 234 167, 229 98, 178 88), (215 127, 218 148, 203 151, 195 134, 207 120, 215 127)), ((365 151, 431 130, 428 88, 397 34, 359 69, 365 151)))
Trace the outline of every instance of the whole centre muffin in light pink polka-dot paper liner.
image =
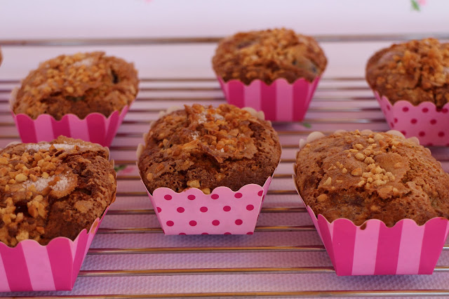
POLYGON ((167 112, 138 147, 165 234, 253 234, 280 158, 269 121, 227 104, 167 112))

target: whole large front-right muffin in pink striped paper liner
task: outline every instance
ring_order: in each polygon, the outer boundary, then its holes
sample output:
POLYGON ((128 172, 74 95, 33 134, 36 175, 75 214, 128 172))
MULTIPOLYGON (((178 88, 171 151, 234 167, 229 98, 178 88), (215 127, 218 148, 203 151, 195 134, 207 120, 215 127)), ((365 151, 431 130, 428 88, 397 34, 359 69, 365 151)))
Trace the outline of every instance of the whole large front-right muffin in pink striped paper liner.
POLYGON ((449 175, 398 131, 312 133, 295 185, 337 275, 432 274, 449 231, 449 175))

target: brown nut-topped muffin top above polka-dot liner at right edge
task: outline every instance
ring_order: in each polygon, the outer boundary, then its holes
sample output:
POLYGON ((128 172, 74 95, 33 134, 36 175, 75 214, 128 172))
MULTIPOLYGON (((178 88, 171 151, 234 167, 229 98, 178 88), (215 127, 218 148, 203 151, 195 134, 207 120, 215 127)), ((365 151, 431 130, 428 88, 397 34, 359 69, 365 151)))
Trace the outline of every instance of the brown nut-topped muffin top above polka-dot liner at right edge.
POLYGON ((366 80, 392 103, 434 102, 441 108, 449 102, 449 44, 423 39, 384 48, 368 60, 366 80))

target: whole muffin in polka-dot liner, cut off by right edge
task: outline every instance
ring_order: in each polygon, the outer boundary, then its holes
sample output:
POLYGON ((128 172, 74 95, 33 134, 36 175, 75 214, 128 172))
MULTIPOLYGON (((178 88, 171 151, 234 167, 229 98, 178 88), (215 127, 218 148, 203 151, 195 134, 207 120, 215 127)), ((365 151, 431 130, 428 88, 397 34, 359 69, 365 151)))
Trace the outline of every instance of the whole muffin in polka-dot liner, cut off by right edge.
POLYGON ((366 81, 390 128, 423 145, 449 146, 449 44, 436 39, 394 44, 373 55, 366 81))

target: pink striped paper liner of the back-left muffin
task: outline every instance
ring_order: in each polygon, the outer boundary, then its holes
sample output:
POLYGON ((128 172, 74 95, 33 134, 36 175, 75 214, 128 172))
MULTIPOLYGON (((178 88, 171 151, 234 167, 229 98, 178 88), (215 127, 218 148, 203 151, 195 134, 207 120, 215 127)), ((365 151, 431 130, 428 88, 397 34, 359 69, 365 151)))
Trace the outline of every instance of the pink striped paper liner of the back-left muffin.
MULTIPOLYGON (((11 94, 11 104, 17 91, 15 88, 11 94)), ((130 105, 126 105, 121 111, 112 112, 109 117, 91 113, 84 119, 79 119, 74 114, 66 114, 60 121, 49 114, 41 114, 32 119, 27 114, 14 114, 12 109, 11 113, 22 142, 51 141, 64 135, 109 147, 129 108, 130 105)))

